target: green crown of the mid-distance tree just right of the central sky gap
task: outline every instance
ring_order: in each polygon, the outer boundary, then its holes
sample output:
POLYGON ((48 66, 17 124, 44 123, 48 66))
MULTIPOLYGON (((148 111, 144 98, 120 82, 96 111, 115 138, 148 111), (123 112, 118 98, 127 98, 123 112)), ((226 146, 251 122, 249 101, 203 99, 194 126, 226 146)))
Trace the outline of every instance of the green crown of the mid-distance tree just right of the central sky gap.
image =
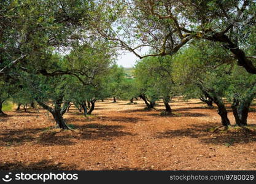
POLYGON ((152 102, 177 95, 172 65, 170 56, 149 57, 138 61, 134 69, 136 90, 133 90, 133 95, 145 94, 152 102))

